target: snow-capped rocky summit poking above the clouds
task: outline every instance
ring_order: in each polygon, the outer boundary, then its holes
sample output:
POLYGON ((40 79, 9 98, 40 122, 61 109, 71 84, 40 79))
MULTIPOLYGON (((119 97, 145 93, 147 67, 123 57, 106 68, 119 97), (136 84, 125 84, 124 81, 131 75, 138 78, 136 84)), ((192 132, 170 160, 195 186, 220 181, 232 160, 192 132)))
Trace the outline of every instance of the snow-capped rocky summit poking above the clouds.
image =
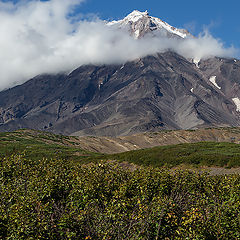
POLYGON ((109 22, 108 25, 128 28, 135 38, 143 37, 147 33, 158 33, 166 37, 178 38, 191 36, 191 34, 185 29, 175 28, 159 18, 149 16, 148 11, 140 12, 138 10, 134 10, 124 19, 109 22))

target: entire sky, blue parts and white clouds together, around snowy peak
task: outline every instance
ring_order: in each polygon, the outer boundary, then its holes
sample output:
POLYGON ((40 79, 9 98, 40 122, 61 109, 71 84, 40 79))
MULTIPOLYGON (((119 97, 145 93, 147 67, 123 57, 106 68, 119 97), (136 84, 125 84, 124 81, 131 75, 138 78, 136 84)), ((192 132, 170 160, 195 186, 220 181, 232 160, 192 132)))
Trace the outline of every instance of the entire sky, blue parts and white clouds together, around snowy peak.
POLYGON ((70 72, 84 64, 123 64, 169 49, 196 61, 212 56, 240 59, 239 9, 239 0, 0 0, 0 91, 42 73, 70 72), (75 24, 92 16, 118 20, 135 9, 148 10, 195 36, 204 27, 212 35, 135 41, 101 21, 75 24))

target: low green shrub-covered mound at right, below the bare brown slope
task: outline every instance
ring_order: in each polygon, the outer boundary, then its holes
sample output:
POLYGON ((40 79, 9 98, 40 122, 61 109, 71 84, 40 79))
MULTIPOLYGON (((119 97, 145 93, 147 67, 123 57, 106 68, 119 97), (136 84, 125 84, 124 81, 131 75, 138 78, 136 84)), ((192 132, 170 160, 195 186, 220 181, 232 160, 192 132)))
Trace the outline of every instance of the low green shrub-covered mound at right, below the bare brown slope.
POLYGON ((186 143, 129 151, 105 158, 154 167, 180 164, 236 167, 240 166, 240 147, 235 143, 186 143))

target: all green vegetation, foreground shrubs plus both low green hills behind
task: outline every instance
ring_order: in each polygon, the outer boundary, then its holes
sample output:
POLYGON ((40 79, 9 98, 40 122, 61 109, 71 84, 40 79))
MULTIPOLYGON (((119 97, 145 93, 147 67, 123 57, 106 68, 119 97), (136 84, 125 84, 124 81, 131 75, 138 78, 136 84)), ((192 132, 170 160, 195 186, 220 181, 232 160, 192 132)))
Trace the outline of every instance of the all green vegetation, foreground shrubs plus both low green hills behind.
POLYGON ((104 155, 77 140, 0 133, 0 239, 240 239, 240 175, 168 169, 240 166, 239 145, 104 155), (142 167, 122 168, 123 161, 142 167))

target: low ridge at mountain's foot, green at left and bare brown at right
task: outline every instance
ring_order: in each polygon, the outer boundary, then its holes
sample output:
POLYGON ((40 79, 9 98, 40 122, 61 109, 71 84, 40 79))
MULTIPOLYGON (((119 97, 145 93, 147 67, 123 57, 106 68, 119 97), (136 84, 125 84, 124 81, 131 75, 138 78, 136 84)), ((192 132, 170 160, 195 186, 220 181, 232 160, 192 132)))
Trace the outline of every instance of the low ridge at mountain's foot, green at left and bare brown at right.
POLYGON ((55 147, 69 147, 74 151, 96 153, 120 153, 156 146, 195 142, 240 142, 240 128, 206 128, 196 130, 169 130, 145 132, 122 137, 78 137, 56 135, 46 131, 21 129, 0 133, 1 148, 19 147, 21 151, 29 145, 42 144, 55 147), (11 147, 12 146, 12 147, 11 147), (22 147, 21 147, 22 146, 22 147))

